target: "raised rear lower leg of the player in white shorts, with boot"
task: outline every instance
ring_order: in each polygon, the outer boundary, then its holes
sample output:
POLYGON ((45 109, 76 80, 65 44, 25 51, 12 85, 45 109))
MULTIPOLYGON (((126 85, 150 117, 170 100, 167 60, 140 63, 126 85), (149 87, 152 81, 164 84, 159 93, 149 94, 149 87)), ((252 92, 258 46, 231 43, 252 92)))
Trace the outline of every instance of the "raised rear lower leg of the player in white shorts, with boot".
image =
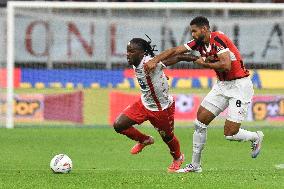
POLYGON ((260 153, 261 143, 264 134, 262 131, 251 132, 240 128, 241 124, 226 120, 224 126, 224 135, 227 140, 231 141, 251 141, 251 157, 256 158, 260 153))

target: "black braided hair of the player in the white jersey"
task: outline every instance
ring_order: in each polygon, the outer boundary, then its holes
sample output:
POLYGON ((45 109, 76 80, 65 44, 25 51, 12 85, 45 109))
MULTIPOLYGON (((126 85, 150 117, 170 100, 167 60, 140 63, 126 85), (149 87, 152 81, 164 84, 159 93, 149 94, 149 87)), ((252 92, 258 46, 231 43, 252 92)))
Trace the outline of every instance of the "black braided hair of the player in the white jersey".
POLYGON ((130 43, 136 44, 141 50, 144 51, 144 54, 146 56, 150 55, 151 57, 154 57, 155 56, 154 51, 157 51, 155 49, 156 45, 151 45, 152 40, 148 35, 146 36, 149 39, 149 41, 146 41, 145 39, 142 38, 133 38, 131 39, 130 43))

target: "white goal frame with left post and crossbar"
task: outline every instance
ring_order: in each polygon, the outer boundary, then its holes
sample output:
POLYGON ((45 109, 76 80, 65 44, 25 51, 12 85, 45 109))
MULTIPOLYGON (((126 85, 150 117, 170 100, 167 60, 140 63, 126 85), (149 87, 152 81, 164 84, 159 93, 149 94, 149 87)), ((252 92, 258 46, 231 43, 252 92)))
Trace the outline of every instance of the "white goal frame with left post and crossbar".
MULTIPOLYGON (((223 18, 228 19, 229 11, 280 11, 284 17, 284 4, 270 3, 107 3, 107 2, 44 2, 44 1, 8 1, 7 2, 7 93, 6 93, 6 128, 14 128, 14 65, 15 65, 15 14, 17 9, 99 9, 99 10, 159 10, 170 17, 171 11, 186 10, 222 10, 223 18)), ((107 15, 106 15, 107 16, 107 15)), ((135 19, 135 18, 134 18, 135 19)), ((278 18, 279 19, 279 18, 278 18)), ((144 34, 143 34, 144 35, 144 34)), ((159 34, 158 34, 159 35, 159 34)), ((109 38, 105 40, 109 41, 109 38)), ((106 49, 107 53, 110 47, 106 49)), ((107 54, 108 55, 108 54, 107 54)), ((108 56, 105 58, 106 68, 111 67, 108 56)))

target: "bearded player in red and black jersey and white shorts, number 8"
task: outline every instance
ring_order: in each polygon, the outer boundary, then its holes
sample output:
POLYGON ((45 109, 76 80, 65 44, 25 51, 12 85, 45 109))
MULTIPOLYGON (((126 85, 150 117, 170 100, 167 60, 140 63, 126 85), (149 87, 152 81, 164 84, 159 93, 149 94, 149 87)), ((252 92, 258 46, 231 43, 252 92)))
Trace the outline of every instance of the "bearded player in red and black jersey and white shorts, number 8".
POLYGON ((200 57, 194 62, 214 69, 217 74, 218 80, 203 99, 194 122, 192 162, 177 172, 202 172, 201 152, 206 143, 207 127, 226 108, 228 116, 224 125, 225 138, 231 141, 251 141, 251 157, 256 158, 264 135, 261 131, 251 132, 240 128, 247 116, 254 91, 239 50, 224 33, 211 32, 206 17, 195 17, 190 22, 190 30, 193 40, 165 50, 145 65, 146 72, 151 72, 157 62, 198 51, 200 57))

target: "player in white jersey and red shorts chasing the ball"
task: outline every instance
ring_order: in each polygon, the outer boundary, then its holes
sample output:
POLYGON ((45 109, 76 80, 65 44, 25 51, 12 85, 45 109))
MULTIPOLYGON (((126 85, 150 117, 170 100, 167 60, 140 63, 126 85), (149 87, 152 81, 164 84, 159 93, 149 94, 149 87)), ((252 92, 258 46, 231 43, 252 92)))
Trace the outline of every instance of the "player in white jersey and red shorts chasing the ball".
POLYGON ((145 146, 153 144, 154 138, 141 133, 133 125, 149 120, 173 157, 168 172, 175 172, 180 169, 184 155, 180 152, 179 141, 174 135, 175 102, 169 95, 167 77, 163 72, 165 66, 175 61, 159 62, 153 72, 146 74, 144 64, 154 57, 154 48, 150 43, 141 38, 133 38, 127 45, 127 61, 133 66, 142 95, 137 102, 123 110, 113 127, 116 132, 138 142, 130 151, 138 154, 145 146))

